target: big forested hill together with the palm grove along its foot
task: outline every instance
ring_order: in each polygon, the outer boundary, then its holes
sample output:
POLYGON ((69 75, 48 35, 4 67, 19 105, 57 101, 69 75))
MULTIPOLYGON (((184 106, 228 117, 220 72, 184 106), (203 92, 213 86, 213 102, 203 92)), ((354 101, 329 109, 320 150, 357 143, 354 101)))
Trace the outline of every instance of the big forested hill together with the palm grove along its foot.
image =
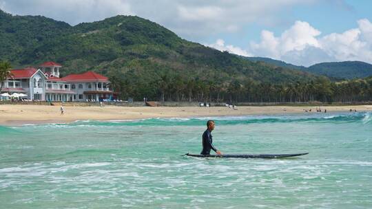
POLYGON ((372 98, 371 78, 331 83, 327 77, 287 65, 249 61, 186 41, 157 23, 132 16, 71 26, 0 10, 0 60, 10 61, 13 68, 54 61, 63 65, 62 75, 99 72, 110 78, 122 99, 347 102, 372 98))

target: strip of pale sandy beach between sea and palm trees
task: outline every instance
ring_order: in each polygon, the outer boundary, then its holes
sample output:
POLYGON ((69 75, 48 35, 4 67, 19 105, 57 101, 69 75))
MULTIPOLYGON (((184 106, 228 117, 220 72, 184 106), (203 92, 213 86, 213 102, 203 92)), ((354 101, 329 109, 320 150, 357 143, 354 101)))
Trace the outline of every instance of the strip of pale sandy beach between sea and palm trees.
POLYGON ((61 115, 59 106, 1 104, 0 125, 21 126, 24 124, 68 123, 76 120, 140 120, 146 118, 190 118, 208 116, 278 115, 290 113, 324 114, 331 112, 372 111, 372 105, 320 106, 244 106, 228 107, 72 107, 65 106, 61 115), (311 111, 309 111, 311 109, 311 111))

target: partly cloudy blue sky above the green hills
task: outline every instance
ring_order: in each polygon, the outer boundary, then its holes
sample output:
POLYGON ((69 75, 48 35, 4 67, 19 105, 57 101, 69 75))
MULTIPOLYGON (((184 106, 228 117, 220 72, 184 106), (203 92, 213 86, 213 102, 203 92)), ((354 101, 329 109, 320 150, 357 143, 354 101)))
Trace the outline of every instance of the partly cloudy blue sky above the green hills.
POLYGON ((71 25, 137 15, 183 39, 243 56, 305 66, 372 63, 372 1, 367 0, 0 0, 0 8, 71 25))

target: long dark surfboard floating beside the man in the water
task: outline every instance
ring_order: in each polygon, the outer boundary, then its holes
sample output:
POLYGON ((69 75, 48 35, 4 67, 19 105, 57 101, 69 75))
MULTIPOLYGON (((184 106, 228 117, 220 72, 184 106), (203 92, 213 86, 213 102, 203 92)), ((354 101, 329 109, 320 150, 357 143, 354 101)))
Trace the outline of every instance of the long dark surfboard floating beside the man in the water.
POLYGON ((234 158, 283 158, 283 157, 296 157, 301 155, 307 155, 309 153, 296 153, 296 154, 237 154, 237 155, 194 155, 186 153, 185 155, 191 156, 191 157, 234 157, 234 158))

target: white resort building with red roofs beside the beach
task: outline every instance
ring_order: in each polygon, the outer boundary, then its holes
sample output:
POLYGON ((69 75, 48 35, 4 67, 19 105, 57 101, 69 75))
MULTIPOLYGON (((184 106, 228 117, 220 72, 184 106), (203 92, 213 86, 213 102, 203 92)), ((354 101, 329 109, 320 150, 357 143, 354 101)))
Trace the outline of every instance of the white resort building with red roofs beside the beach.
POLYGON ((107 77, 95 72, 70 74, 60 78, 61 65, 43 63, 39 69, 12 69, 12 76, 3 83, 1 93, 23 94, 27 100, 98 102, 112 99, 107 77))

